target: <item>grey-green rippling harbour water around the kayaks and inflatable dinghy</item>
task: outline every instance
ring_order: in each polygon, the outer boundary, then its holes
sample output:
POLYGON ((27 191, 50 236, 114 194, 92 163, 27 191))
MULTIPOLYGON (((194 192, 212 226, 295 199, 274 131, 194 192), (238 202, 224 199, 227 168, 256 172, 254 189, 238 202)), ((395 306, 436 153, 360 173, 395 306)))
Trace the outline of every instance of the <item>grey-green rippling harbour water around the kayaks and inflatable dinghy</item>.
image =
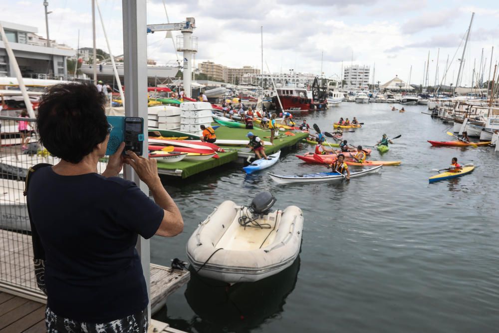
POLYGON ((153 237, 156 264, 187 261, 187 240, 225 200, 247 205, 270 191, 275 209, 299 206, 305 222, 300 255, 285 271, 232 287, 191 272, 191 282, 153 318, 187 332, 498 332, 499 153, 431 147, 426 140, 453 140, 449 125, 422 114, 426 106, 405 109, 343 102, 295 116, 328 132, 340 117, 355 116, 365 125, 343 136, 364 147, 383 133, 402 134, 383 156, 372 148, 371 160, 402 161, 377 174, 340 183, 274 183, 266 171, 325 171, 294 156, 313 150, 299 144, 254 175, 232 165, 185 181, 164 179, 185 227, 175 238, 153 237), (432 169, 448 167, 452 157, 476 169, 429 184, 432 169))

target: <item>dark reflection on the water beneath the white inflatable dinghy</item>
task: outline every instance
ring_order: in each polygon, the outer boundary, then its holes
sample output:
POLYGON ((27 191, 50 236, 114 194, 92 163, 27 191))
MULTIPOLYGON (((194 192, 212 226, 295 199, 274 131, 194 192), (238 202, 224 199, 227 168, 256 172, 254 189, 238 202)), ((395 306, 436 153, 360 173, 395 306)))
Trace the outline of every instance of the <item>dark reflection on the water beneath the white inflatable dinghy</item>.
POLYGON ((274 276, 230 287, 200 277, 191 270, 185 297, 197 316, 188 323, 189 331, 250 332, 283 311, 286 297, 296 285, 299 270, 298 256, 290 267, 274 276))

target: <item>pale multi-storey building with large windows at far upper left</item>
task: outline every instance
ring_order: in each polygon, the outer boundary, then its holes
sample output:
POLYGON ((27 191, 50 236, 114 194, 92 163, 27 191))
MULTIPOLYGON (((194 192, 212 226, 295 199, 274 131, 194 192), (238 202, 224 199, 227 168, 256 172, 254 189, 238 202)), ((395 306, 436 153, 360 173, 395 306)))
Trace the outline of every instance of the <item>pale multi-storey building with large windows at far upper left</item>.
MULTIPOLYGON (((67 79, 67 57, 74 57, 76 50, 38 36, 38 29, 18 23, 1 21, 23 77, 67 79), (50 45, 50 47, 47 47, 50 45)), ((15 76, 5 45, 0 37, 0 76, 15 76)))

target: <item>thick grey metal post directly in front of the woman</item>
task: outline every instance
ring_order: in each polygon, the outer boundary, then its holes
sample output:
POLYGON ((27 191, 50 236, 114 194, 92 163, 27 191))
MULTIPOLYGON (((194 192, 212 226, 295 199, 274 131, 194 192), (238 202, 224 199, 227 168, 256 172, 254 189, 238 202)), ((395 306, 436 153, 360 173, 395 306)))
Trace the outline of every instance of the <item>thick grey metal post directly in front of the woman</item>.
MULTIPOLYGON (((147 123, 147 20, 146 0, 122 0, 123 7, 123 54, 125 79, 125 115, 127 117, 141 117, 147 123)), ((147 136, 144 137, 144 147, 148 145, 147 136)), ((147 157, 147 149, 144 149, 147 157)), ((134 181, 139 188, 149 195, 147 185, 133 169, 124 167, 124 178, 134 181)), ((139 237, 137 252, 140 255, 142 270, 147 284, 147 293, 151 295, 150 262, 151 253, 149 240, 139 237)), ((148 305, 149 321, 151 320, 151 303, 148 305)))

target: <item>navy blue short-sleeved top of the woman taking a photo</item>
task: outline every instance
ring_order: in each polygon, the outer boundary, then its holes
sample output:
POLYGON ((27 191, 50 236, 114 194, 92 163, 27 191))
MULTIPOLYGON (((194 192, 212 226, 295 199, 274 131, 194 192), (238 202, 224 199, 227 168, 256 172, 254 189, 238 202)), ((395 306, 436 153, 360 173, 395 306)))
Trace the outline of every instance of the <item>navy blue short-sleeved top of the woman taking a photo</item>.
POLYGON ((27 200, 45 250, 47 307, 75 321, 106 323, 149 300, 138 235, 158 230, 164 211, 135 183, 97 173, 31 175, 27 200))

